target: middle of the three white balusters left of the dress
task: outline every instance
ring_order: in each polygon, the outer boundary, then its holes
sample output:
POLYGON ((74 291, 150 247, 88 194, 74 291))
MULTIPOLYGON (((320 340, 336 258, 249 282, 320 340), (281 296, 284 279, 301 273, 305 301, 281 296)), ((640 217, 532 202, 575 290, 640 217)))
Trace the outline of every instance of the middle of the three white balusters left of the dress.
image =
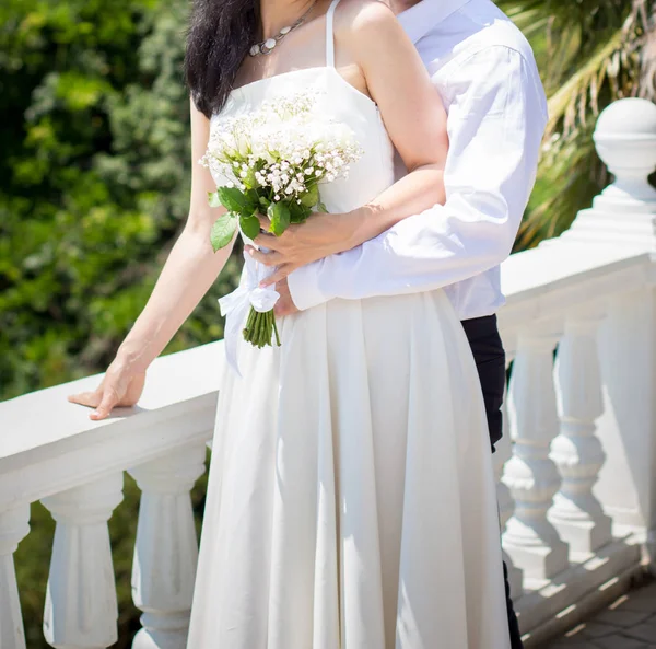
POLYGON ((57 649, 102 649, 117 640, 107 521, 121 500, 122 473, 43 499, 57 521, 44 613, 44 635, 57 649))

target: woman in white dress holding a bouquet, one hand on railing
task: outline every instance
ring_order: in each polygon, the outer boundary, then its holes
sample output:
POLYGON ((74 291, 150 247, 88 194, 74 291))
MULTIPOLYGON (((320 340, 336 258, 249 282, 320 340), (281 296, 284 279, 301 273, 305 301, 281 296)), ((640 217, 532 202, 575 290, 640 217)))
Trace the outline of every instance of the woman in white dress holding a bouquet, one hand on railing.
MULTIPOLYGON (((321 188, 356 245, 444 201, 445 112, 375 0, 196 0, 186 60, 189 219, 101 386, 139 398, 223 268, 196 162, 212 129, 313 91, 364 153, 321 188), (409 173, 394 183, 395 151, 409 173)), ((241 340, 224 370, 189 649, 506 649, 487 421, 471 351, 442 290, 333 300, 283 318, 281 347, 241 340)))

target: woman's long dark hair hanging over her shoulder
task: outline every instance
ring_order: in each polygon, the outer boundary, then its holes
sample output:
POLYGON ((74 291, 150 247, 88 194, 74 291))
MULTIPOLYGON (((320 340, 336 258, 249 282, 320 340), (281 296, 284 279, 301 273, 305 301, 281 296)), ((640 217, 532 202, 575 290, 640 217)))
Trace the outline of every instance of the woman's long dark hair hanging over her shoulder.
POLYGON ((196 107, 221 111, 259 30, 259 0, 194 0, 185 78, 196 107))

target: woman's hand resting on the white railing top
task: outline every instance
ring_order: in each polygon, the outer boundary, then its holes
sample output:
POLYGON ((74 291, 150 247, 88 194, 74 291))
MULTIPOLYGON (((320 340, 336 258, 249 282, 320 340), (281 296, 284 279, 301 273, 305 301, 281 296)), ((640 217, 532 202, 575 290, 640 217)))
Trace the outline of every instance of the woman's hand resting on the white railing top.
POLYGON ((71 394, 68 399, 73 404, 95 408, 89 418, 98 421, 108 417, 116 406, 133 406, 141 397, 144 382, 144 371, 136 371, 115 360, 96 390, 71 394))

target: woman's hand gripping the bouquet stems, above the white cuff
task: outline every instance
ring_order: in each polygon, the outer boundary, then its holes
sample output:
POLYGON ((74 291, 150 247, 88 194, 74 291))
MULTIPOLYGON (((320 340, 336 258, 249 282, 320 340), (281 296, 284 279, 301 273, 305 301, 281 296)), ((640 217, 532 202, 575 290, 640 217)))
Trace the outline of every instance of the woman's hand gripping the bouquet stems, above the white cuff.
MULTIPOLYGON (((269 230, 269 219, 259 217, 259 220, 262 230, 269 230)), ((278 266, 262 281, 262 287, 271 286, 301 266, 351 250, 355 245, 352 243, 355 224, 356 219, 351 215, 311 215, 305 223, 290 225, 280 236, 269 233, 256 236, 255 243, 271 252, 261 253, 253 246, 246 246, 246 252, 265 266, 278 266)))

